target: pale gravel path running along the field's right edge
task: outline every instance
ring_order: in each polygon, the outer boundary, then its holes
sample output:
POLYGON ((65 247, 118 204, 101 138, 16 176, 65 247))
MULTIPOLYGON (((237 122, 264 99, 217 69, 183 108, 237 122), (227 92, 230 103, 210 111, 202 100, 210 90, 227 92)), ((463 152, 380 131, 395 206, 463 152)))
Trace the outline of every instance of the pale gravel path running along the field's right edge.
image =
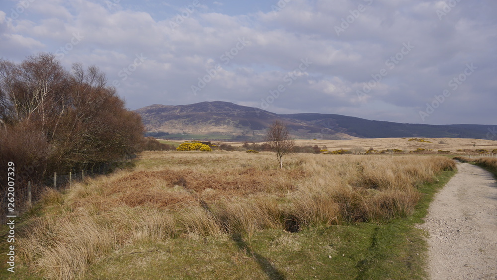
POLYGON ((480 167, 458 163, 459 172, 429 207, 431 279, 497 279, 497 184, 480 167))

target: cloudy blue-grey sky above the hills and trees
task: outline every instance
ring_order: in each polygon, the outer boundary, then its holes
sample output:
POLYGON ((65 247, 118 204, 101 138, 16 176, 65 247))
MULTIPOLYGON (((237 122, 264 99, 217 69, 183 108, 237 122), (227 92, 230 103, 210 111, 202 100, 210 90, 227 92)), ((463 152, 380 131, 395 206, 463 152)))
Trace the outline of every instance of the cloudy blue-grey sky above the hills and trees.
POLYGON ((495 0, 2 0, 0 57, 95 65, 130 109, 220 100, 496 125, 496 13, 495 0))

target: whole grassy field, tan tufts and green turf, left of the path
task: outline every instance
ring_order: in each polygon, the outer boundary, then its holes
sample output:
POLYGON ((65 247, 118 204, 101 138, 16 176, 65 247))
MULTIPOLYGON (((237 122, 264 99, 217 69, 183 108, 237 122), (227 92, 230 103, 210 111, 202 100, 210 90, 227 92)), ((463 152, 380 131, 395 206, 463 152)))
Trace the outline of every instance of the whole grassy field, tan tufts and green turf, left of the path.
POLYGON ((272 153, 222 151, 133 164, 47 190, 18 226, 11 279, 419 279, 414 223, 454 168, 440 156, 293 154, 280 170, 272 153))

